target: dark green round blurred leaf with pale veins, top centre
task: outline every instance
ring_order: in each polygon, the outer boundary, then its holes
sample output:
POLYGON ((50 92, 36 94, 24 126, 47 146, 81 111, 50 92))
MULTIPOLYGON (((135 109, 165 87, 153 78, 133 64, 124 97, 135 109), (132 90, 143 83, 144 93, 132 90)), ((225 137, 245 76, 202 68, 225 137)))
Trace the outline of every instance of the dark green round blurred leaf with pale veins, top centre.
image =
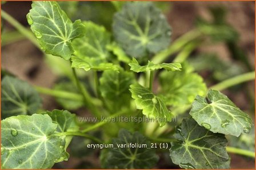
POLYGON ((152 2, 126 2, 114 15, 113 32, 129 56, 144 57, 170 44, 171 28, 152 2))

